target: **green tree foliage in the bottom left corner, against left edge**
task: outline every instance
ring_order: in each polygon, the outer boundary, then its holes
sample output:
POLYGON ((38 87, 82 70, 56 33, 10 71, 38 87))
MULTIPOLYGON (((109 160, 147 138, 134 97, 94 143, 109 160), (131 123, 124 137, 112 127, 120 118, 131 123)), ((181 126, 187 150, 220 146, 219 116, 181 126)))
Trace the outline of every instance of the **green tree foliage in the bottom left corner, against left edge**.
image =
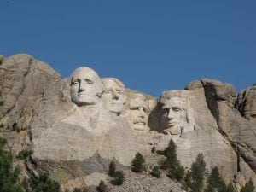
POLYGON ((20 167, 13 170, 12 155, 3 149, 6 139, 0 137, 0 191, 24 192, 18 183, 20 167))

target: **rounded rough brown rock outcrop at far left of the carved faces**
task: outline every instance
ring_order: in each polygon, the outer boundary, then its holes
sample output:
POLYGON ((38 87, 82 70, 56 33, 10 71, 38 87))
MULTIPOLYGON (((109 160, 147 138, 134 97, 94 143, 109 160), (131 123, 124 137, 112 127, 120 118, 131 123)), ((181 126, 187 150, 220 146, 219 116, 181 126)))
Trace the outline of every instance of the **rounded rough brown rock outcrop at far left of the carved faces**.
POLYGON ((44 102, 46 85, 61 78, 49 65, 25 54, 4 57, 0 77, 0 100, 3 102, 0 107, 3 131, 0 135, 9 138, 9 145, 17 153, 25 148, 26 131, 37 115, 36 109, 44 102), (24 131, 19 133, 20 130, 24 131))

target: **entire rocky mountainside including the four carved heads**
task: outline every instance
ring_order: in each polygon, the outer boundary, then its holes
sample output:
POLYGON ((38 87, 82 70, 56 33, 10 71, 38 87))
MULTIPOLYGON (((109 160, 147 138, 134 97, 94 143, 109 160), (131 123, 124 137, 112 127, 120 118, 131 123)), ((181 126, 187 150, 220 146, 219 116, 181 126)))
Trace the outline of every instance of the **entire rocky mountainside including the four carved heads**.
POLYGON ((14 154, 34 151, 28 174, 49 172, 67 189, 97 185, 111 160, 130 166, 172 139, 183 166, 201 153, 226 182, 255 182, 255 86, 236 96, 231 84, 200 79, 154 98, 89 67, 61 79, 30 55, 0 59, 0 136, 14 154))

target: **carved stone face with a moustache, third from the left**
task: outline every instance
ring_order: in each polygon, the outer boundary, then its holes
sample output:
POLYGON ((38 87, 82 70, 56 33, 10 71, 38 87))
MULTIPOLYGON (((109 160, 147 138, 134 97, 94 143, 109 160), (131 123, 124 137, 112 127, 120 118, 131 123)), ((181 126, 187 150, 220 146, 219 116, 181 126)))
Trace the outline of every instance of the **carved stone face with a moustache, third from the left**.
POLYGON ((147 129, 147 102, 143 95, 134 97, 129 102, 128 120, 131 126, 137 131, 146 131, 147 129))

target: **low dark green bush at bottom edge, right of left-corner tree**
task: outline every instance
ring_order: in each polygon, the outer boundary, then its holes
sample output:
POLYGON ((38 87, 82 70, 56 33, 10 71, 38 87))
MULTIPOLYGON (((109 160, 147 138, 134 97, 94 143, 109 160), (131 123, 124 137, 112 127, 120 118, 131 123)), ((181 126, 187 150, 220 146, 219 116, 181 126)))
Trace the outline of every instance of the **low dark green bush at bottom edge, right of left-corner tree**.
MULTIPOLYGON (((30 177, 28 180, 31 191, 29 192, 60 192, 60 184, 52 180, 47 173, 30 177)), ((28 191, 27 191, 28 192, 28 191)))

